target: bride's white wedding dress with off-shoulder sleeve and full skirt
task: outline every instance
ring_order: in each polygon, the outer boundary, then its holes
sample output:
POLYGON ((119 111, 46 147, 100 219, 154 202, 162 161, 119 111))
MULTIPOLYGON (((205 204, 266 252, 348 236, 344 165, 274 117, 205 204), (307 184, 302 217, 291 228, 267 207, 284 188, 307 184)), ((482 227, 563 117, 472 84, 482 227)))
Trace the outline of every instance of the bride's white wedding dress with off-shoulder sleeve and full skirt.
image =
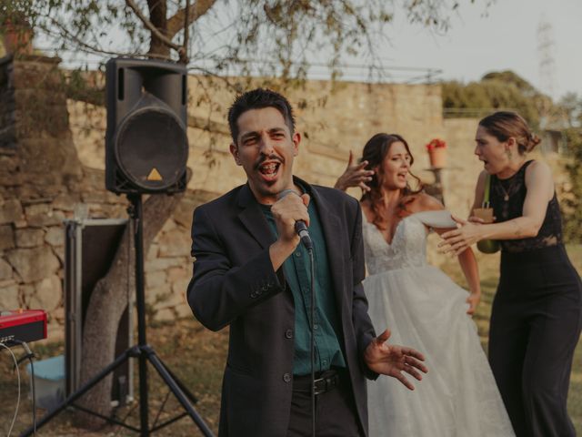
POLYGON ((363 221, 370 317, 378 332, 392 331, 389 342, 422 352, 428 368, 413 379, 415 391, 386 376, 368 382, 370 437, 515 435, 467 315, 467 291, 426 264, 426 227, 455 227, 450 213, 402 219, 391 244, 363 221))

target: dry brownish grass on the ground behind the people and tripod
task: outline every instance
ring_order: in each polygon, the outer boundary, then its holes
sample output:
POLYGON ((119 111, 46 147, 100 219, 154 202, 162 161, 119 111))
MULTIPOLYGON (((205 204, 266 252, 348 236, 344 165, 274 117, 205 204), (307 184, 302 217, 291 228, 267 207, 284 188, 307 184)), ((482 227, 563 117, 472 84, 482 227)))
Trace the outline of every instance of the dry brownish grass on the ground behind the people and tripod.
MULTIPOLYGON (((568 253, 578 272, 582 271, 582 245, 568 247, 568 253)), ((462 274, 457 263, 447 260, 443 269, 459 283, 463 283, 462 274)), ((479 258, 479 269, 481 272, 481 284, 483 298, 477 309, 475 321, 479 331, 479 336, 487 350, 488 320, 491 312, 491 302, 497 288, 498 275, 498 255, 487 255, 479 258)), ((148 327, 147 336, 150 344, 156 350, 157 355, 166 363, 167 367, 174 371, 176 376, 185 383, 197 397, 196 411, 202 416, 208 426, 217 432, 218 411, 220 407, 220 387, 222 383, 222 372, 226 360, 226 348, 228 343, 228 332, 211 332, 204 329, 194 318, 186 320, 176 320, 171 324, 155 324, 148 327)), ((38 359, 55 356, 63 353, 62 343, 40 344, 33 343, 38 359)), ((15 350, 20 355, 21 351, 15 350)), ((24 369, 24 365, 21 366, 24 369)), ((27 376, 22 371, 23 395, 20 404, 19 414, 15 423, 13 435, 18 435, 32 424, 32 406, 27 399, 28 387, 27 376)), ((135 372, 135 374, 137 374, 135 372)), ((150 422, 154 421, 160 405, 166 399, 168 391, 166 386, 157 377, 153 367, 148 367, 149 380, 149 416, 150 422)), ((17 397, 17 383, 15 374, 12 371, 12 359, 6 352, 0 353, 0 435, 6 434, 15 412, 17 397)), ((137 381, 135 381, 135 393, 137 393, 137 381)), ((131 424, 139 425, 139 406, 135 401, 129 406, 120 408, 117 416, 127 417, 131 424)), ((160 414, 160 421, 173 417, 176 412, 181 412, 181 406, 176 399, 170 395, 166 403, 164 412, 160 414)), ((578 434, 582 434, 582 346, 578 343, 574 358, 570 391, 568 396, 568 411, 572 418, 578 434)), ((38 417, 44 414, 38 412, 38 417)), ((135 436, 134 432, 129 432, 124 428, 115 426, 105 426, 95 432, 87 432, 83 429, 75 428, 75 413, 64 412, 57 416, 54 421, 49 422, 42 428, 39 434, 44 436, 135 436)), ((196 425, 189 419, 183 418, 172 423, 156 435, 163 436, 199 436, 202 435, 196 425)))

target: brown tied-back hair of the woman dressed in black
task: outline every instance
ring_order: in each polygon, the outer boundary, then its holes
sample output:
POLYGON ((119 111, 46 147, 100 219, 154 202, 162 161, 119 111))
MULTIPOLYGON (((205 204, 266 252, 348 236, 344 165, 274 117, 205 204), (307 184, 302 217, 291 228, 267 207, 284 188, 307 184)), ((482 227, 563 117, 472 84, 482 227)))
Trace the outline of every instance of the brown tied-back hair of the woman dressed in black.
POLYGON ((500 142, 507 141, 509 137, 516 138, 520 155, 531 152, 541 142, 541 139, 531 132, 526 120, 515 112, 496 112, 479 121, 479 126, 485 127, 487 133, 500 142))

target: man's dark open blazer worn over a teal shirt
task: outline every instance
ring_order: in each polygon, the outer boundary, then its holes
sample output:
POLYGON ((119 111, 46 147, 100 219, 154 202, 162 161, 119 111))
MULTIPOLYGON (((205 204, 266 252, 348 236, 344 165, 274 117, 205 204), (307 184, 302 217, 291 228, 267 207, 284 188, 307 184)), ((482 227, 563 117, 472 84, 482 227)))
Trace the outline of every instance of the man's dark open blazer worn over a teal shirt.
MULTIPOLYGON (((361 285, 361 209, 339 190, 296 180, 307 188, 321 219, 341 318, 343 338, 338 340, 367 433, 365 376, 377 375, 362 357, 376 334, 361 285)), ((219 435, 285 436, 293 386, 294 301, 283 269, 273 270, 268 249, 275 238, 248 185, 196 208, 192 239, 188 303, 206 328, 230 325, 219 435)))

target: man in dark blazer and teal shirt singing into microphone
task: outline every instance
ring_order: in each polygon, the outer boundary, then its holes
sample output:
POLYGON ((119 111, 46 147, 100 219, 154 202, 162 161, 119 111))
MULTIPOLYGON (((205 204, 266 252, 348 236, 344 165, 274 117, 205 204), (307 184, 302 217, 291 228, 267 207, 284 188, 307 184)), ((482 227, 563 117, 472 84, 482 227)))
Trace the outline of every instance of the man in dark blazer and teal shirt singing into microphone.
POLYGON ((313 335, 316 435, 365 436, 366 377, 386 374, 413 390, 402 371, 421 380, 426 367, 419 352, 387 344, 388 330, 376 337, 361 285, 359 205, 293 176, 301 137, 285 97, 261 88, 238 96, 228 123, 247 182, 196 208, 188 286, 206 328, 230 326, 219 435, 311 435, 313 335), (313 242, 313 324, 299 220, 313 242))

